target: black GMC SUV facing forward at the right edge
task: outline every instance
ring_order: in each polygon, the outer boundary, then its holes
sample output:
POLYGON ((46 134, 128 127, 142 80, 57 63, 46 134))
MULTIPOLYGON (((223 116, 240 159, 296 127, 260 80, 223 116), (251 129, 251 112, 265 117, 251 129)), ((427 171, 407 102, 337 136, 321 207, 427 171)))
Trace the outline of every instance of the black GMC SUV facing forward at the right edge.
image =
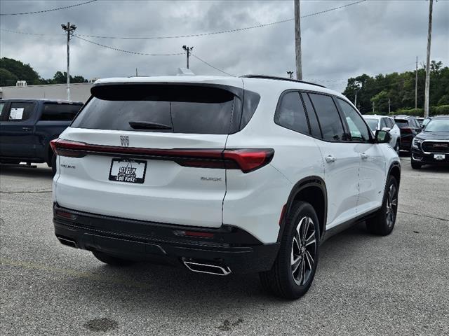
POLYGON ((413 139, 411 164, 413 169, 422 165, 449 165, 449 116, 431 118, 423 132, 413 139))

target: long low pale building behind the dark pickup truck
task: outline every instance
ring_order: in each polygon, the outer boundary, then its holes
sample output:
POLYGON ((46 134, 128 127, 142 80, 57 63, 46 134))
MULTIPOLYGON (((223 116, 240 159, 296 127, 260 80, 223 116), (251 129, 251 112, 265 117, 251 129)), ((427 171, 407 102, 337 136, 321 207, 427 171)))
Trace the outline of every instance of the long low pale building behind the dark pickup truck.
MULTIPOLYGON (((70 83, 70 100, 85 103, 91 97, 93 83, 70 83)), ((67 84, 23 85, 0 87, 0 99, 67 100, 67 84)))

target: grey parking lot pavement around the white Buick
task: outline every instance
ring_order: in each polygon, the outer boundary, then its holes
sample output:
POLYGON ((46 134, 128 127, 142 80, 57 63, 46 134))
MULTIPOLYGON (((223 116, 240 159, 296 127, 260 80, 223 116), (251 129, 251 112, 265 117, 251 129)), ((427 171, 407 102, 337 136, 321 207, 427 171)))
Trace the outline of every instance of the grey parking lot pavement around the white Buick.
POLYGON ((54 237, 50 169, 0 167, 0 334, 449 335, 449 169, 401 160, 394 232, 326 241, 294 302, 255 274, 103 265, 54 237))

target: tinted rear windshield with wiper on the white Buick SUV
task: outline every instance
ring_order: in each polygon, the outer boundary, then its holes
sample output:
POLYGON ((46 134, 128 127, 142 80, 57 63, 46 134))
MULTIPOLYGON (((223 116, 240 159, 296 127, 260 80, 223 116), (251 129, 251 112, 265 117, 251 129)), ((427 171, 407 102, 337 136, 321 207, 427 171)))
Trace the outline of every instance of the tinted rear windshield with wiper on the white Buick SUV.
POLYGON ((93 96, 72 127, 229 134, 237 99, 221 88, 190 85, 100 86, 93 96))

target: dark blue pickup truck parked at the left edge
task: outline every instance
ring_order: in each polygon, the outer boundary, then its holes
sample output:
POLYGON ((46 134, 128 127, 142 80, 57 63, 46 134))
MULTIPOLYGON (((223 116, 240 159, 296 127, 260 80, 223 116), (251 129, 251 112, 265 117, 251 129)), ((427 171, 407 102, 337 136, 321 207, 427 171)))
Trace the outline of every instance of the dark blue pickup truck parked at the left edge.
POLYGON ((50 141, 58 138, 83 103, 51 99, 0 100, 0 163, 43 163, 56 171, 50 141))

